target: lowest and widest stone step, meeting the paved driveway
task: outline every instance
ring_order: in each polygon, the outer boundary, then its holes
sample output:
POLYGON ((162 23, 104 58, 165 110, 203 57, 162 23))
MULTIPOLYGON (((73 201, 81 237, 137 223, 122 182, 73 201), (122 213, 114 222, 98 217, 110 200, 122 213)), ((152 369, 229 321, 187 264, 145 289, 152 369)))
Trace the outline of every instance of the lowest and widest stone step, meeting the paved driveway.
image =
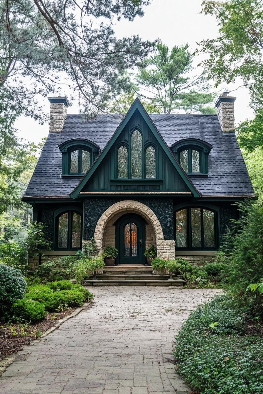
POLYGON ((84 283, 84 286, 183 286, 185 281, 181 279, 174 279, 173 281, 123 281, 123 280, 88 280, 84 283))

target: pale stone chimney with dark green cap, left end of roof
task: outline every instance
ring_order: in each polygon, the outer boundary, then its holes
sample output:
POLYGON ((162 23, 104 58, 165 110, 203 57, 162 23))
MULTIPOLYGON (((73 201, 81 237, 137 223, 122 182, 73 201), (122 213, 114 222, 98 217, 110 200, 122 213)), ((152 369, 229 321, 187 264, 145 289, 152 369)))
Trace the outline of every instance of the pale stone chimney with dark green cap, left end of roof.
POLYGON ((50 102, 49 132, 61 133, 67 116, 67 97, 48 97, 50 102))

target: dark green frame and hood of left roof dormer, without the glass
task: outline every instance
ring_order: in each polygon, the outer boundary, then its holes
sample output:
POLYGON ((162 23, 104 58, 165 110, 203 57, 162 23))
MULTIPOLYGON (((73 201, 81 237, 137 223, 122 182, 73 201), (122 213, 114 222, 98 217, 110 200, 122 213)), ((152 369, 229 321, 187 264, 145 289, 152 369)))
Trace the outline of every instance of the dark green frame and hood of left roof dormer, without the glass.
POLYGON ((94 144, 88 139, 79 138, 63 142, 59 145, 59 149, 62 152, 62 177, 83 177, 88 171, 82 171, 83 152, 89 152, 90 154, 88 169, 100 153, 100 149, 97 144, 94 144), (78 171, 71 172, 71 154, 75 151, 78 151, 78 171))

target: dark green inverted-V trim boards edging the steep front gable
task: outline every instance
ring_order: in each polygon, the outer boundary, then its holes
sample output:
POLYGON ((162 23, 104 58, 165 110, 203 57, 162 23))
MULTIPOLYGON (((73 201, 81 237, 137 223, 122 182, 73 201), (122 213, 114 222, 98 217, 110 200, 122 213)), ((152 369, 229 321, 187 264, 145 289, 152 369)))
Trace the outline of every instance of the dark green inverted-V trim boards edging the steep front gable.
POLYGON ((131 120, 132 115, 134 115, 135 111, 138 111, 142 118, 144 119, 146 125, 149 127, 155 138, 157 139, 157 142, 160 144, 162 147, 164 153, 170 160, 171 164, 173 167, 176 169, 177 173, 181 177, 181 179, 185 182, 187 185, 188 189, 190 192, 193 194, 194 197, 200 197, 201 193, 195 188, 195 186, 192 184, 191 180, 187 177, 185 171, 183 171, 182 167, 179 165, 178 161, 174 157, 172 151, 169 149, 167 146, 166 142, 160 135, 159 131, 149 118, 147 112, 145 111, 144 107, 142 106, 141 102, 139 99, 134 100, 131 108, 127 112, 127 115, 121 122, 121 124, 118 126, 116 131, 114 132, 112 138, 110 141, 107 143, 101 154, 98 156, 98 158, 95 160, 93 165, 91 165, 90 170, 86 173, 86 175, 82 178, 82 180, 79 182, 79 184, 76 186, 76 188, 72 191, 71 197, 76 198, 78 197, 79 193, 82 191, 88 180, 92 177, 92 175, 95 173, 96 169, 101 165, 102 161, 106 157, 106 155, 110 152, 110 150, 114 147, 116 144, 119 135, 125 128, 125 126, 128 124, 128 122, 131 120))

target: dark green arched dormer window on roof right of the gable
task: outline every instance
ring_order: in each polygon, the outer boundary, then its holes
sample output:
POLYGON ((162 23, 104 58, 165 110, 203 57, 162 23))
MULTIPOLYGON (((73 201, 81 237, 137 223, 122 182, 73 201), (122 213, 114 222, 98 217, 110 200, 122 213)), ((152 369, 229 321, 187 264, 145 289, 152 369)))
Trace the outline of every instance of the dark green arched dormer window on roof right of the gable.
POLYGON ((208 174, 208 155, 212 149, 206 141, 195 138, 181 139, 171 146, 173 154, 186 173, 208 174))

